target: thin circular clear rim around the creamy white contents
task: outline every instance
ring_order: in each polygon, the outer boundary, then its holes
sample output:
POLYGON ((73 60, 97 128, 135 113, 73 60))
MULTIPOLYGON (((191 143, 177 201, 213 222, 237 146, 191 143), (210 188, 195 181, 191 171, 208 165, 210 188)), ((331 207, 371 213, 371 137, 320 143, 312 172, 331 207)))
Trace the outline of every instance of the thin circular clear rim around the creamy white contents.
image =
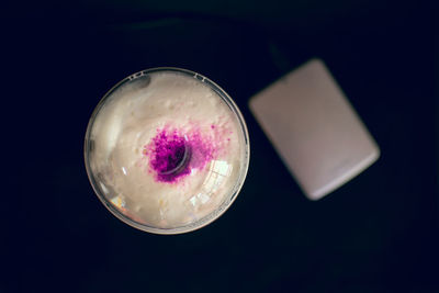
POLYGON ((100 99, 100 101, 95 105, 95 108, 90 116, 89 123, 87 125, 86 137, 85 137, 85 143, 83 143, 83 156, 85 156, 85 165, 86 165, 87 176, 89 178, 89 181, 91 183, 91 187, 93 188, 95 195, 102 202, 102 204, 115 217, 117 217, 120 221, 124 222, 125 224, 127 224, 134 228, 140 229, 143 232, 153 233, 153 234, 161 234, 161 235, 173 235, 173 234, 183 234, 183 233, 189 233, 192 230, 200 229, 200 228, 211 224, 215 219, 217 219, 219 216, 222 216, 228 210, 228 207, 233 204, 233 202, 236 200, 237 195, 239 194, 239 192, 244 185, 245 179, 247 177, 249 161, 250 161, 250 140, 249 140, 247 125, 246 125, 246 122, 244 120, 241 112, 239 111, 238 106, 236 105, 235 101, 230 98, 230 95, 228 95, 228 93, 225 90, 223 90, 218 84, 216 84, 214 81, 212 81, 207 77, 200 75, 195 71, 188 70, 188 69, 178 68, 178 67, 155 67, 155 68, 140 70, 128 77, 125 77, 124 79, 119 81, 116 84, 114 84, 109 91, 106 91, 106 93, 100 99), (245 161, 243 162, 243 165, 240 167, 241 170, 239 171, 239 177, 236 180, 235 185, 233 187, 230 193, 225 196, 224 201, 213 212, 199 218, 198 221, 192 222, 187 225, 183 225, 183 226, 173 227, 173 228, 158 228, 158 227, 154 227, 154 226, 148 226, 144 223, 139 223, 139 222, 131 218, 130 216, 123 214, 103 194, 103 192, 100 189, 100 187, 97 182, 97 179, 94 178, 94 174, 91 170, 90 159, 89 159, 91 128, 94 125, 94 121, 95 121, 100 110, 105 104, 108 99, 112 95, 112 93, 115 90, 117 90, 119 88, 121 88, 123 84, 125 84, 126 82, 135 80, 136 78, 146 76, 149 74, 154 74, 154 72, 164 72, 164 71, 173 71, 173 72, 183 74, 188 77, 192 77, 192 78, 199 80, 200 82, 205 83, 222 99, 223 102, 225 102, 227 104, 227 106, 234 113, 234 116, 237 119, 237 121, 239 123, 239 128, 244 136, 244 143, 245 143, 244 153, 246 156, 245 161))

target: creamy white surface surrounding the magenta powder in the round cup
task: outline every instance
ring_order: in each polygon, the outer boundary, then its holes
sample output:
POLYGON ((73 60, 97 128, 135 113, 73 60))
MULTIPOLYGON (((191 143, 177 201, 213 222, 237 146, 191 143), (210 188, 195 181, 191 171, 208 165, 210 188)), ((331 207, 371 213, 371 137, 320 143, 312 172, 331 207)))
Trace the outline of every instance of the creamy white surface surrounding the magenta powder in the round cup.
POLYGON ((133 219, 181 227, 227 199, 246 158, 244 136, 233 112, 203 82, 173 72, 149 77, 146 87, 128 83, 116 90, 99 111, 91 128, 90 167, 105 196, 133 219), (217 157, 178 183, 157 182, 143 149, 165 126, 199 128, 216 142, 217 157))

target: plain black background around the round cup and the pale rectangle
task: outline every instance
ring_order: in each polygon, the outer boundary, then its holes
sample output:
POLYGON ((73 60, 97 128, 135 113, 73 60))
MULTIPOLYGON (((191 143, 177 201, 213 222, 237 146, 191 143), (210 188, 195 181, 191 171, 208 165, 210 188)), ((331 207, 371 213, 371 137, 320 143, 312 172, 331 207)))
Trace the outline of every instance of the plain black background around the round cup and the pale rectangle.
POLYGON ((35 1, 3 14, 0 292, 439 292, 434 1, 35 1), (382 150, 318 202, 247 108, 312 57, 382 150), (100 98, 157 66, 222 86, 251 142, 234 205, 178 236, 112 216, 82 158, 100 98))

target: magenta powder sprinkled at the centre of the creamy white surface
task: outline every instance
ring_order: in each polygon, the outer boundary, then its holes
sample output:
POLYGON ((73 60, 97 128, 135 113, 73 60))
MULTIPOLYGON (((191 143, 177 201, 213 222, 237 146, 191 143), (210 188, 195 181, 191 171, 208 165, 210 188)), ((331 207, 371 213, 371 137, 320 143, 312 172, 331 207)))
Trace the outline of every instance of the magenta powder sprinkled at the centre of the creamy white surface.
POLYGON ((192 169, 202 169, 214 157, 214 143, 199 132, 182 133, 177 129, 157 129, 157 135, 145 146, 149 170, 159 182, 175 183, 192 169))

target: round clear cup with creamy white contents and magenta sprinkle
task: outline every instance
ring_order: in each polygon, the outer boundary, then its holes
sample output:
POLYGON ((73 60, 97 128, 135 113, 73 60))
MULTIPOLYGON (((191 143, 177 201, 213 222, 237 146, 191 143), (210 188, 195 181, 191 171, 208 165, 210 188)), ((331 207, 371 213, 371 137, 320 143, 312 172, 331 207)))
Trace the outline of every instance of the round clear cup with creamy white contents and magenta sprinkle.
POLYGON ((218 218, 238 195, 249 138, 232 98, 206 77, 153 68, 114 86, 85 139, 91 185, 124 223, 180 234, 218 218))

